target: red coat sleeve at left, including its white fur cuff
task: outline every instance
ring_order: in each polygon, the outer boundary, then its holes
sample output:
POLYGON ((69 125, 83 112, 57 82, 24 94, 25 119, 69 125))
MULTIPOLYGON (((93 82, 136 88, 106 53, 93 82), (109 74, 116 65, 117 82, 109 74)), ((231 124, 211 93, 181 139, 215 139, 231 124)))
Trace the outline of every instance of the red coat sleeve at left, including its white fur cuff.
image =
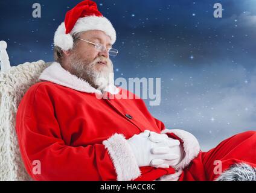
POLYGON ((133 180, 140 176, 122 134, 114 134, 104 145, 65 145, 53 103, 45 87, 33 86, 16 116, 22 159, 34 180, 133 180))

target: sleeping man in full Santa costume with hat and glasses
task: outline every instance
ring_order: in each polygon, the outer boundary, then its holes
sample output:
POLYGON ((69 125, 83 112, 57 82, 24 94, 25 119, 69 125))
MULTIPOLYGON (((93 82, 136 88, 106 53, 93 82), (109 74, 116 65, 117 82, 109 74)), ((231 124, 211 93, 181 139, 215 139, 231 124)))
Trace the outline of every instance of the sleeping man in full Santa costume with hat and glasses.
POLYGON ((95 2, 66 13, 54 36, 56 62, 25 93, 16 116, 28 174, 34 180, 255 180, 255 131, 200 151, 193 134, 165 128, 144 101, 114 85, 115 40, 95 2))

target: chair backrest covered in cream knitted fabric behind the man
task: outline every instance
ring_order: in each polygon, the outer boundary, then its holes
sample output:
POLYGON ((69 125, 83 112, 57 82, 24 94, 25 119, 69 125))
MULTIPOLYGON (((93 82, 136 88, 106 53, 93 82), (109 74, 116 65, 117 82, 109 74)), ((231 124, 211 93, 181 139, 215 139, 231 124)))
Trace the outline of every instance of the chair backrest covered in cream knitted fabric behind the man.
POLYGON ((0 72, 0 180, 31 180, 19 151, 16 112, 25 92, 50 65, 39 60, 0 72))

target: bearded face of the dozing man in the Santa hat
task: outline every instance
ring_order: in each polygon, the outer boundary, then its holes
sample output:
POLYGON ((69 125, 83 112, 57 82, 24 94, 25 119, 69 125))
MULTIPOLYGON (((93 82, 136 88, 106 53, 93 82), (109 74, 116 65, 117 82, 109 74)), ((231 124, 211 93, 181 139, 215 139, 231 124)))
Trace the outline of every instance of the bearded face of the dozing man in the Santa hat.
MULTIPOLYGON (((101 43, 111 48, 110 37, 103 31, 91 30, 80 35, 80 38, 90 42, 101 43)), ((104 88, 113 80, 110 74, 113 73, 113 65, 107 51, 97 51, 91 43, 79 41, 68 54, 68 70, 78 78, 83 78, 95 88, 104 88), (97 80, 100 81, 97 83, 97 80)))

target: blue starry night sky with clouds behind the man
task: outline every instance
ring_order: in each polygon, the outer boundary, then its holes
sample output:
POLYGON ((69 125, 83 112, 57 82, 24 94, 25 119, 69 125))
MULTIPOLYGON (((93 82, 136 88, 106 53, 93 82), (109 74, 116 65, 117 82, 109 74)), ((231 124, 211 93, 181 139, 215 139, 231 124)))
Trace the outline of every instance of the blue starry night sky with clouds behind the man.
MULTIPOLYGON (((1 0, 11 66, 53 61, 54 32, 78 2, 1 0)), ((256 130, 256 0, 95 2, 117 31, 115 78, 161 78, 160 105, 144 101, 167 128, 190 131, 202 150, 256 130), (213 16, 216 2, 222 18, 213 16)))

